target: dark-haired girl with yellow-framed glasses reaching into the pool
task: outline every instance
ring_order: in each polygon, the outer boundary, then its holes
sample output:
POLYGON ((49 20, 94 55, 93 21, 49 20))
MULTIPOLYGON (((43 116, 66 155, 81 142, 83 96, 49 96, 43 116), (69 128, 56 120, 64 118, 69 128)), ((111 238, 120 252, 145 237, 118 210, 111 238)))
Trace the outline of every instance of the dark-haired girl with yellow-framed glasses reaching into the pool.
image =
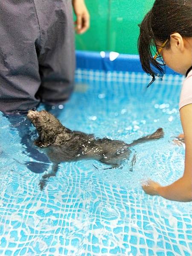
POLYGON ((140 24, 138 48, 143 70, 152 76, 150 84, 163 77, 164 64, 186 76, 179 103, 186 146, 183 176, 169 186, 148 180, 143 189, 169 200, 192 201, 192 1, 155 0, 140 24))

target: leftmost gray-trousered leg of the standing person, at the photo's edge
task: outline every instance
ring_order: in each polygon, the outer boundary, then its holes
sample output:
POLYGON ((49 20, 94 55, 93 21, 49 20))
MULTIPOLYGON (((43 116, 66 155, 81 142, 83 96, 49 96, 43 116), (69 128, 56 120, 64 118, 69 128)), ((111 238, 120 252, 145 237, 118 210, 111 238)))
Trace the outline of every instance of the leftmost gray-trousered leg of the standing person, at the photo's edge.
POLYGON ((0 111, 27 111, 39 103, 38 17, 31 0, 3 0, 0 10, 0 111))

